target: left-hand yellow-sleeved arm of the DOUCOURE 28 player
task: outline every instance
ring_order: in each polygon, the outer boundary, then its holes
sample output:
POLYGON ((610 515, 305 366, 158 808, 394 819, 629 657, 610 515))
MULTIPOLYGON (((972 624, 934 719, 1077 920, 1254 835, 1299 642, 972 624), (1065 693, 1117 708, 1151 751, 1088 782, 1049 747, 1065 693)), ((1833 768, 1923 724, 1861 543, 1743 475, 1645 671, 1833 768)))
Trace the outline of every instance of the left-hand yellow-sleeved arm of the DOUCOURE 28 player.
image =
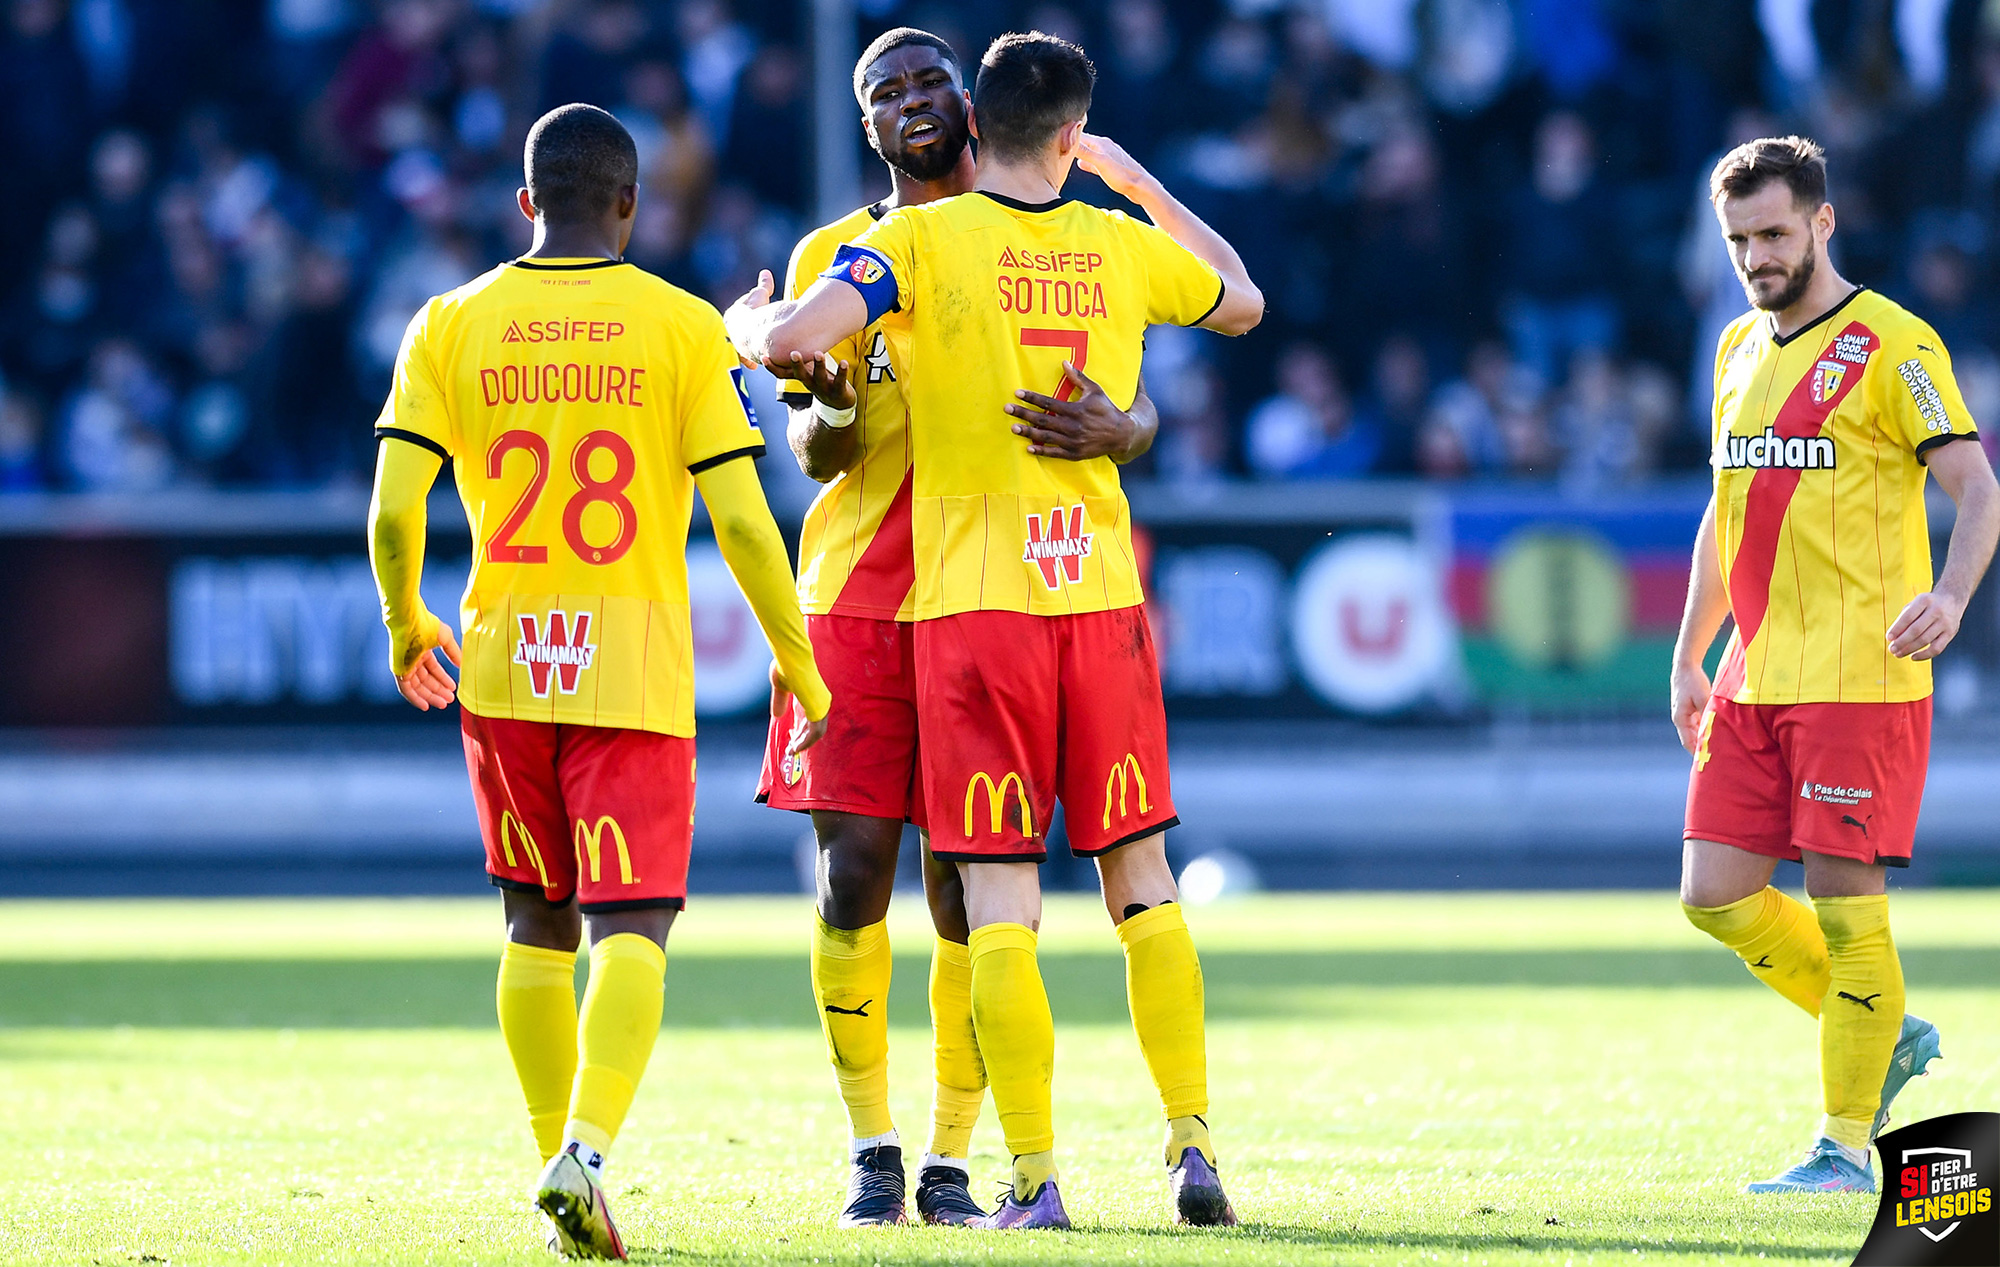
POLYGON ((424 608, 426 500, 444 458, 408 440, 384 436, 376 446, 374 498, 368 500, 368 564, 374 568, 382 622, 388 626, 390 671, 396 689, 418 709, 446 707, 458 683, 432 649, 458 663, 452 628, 424 608))

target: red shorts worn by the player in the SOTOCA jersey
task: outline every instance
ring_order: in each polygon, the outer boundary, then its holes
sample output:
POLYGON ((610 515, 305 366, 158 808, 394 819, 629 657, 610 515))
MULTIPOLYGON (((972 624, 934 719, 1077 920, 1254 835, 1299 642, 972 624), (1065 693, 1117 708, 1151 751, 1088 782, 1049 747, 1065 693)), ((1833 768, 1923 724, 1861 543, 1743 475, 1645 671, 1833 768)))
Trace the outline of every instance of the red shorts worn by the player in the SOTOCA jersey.
POLYGON ((1082 857, 1180 821, 1144 608, 918 622, 916 685, 934 855, 1042 861, 1056 801, 1082 857))

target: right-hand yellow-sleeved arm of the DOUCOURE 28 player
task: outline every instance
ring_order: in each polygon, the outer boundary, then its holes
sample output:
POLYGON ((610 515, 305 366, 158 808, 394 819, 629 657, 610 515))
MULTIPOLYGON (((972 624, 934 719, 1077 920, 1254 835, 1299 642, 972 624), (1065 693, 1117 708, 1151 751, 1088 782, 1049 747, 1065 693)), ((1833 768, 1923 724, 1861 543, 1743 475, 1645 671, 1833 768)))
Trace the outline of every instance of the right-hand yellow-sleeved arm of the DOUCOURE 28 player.
POLYGON ((792 751, 804 751, 826 733, 832 693, 812 659, 806 618, 798 614, 792 560, 784 552, 784 538, 778 536, 778 522, 770 518, 764 486, 756 482, 756 464, 720 462, 698 472, 694 486, 708 506, 722 562, 730 566, 730 576, 750 600, 750 612, 756 614, 756 624, 778 659, 772 685, 796 695, 810 719, 806 731, 792 741, 792 751))

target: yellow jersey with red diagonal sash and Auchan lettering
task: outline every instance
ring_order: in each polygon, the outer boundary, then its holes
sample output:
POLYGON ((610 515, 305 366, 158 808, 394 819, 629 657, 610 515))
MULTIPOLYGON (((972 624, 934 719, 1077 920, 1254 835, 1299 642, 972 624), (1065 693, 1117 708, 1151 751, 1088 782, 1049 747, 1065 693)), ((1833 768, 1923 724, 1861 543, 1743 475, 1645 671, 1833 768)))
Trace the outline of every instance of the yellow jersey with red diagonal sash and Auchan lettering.
POLYGON ((1716 350, 1716 546, 1738 703, 1906 701, 1930 663, 1888 628, 1930 590, 1924 454, 1974 438, 1938 334, 1856 290, 1790 338, 1736 320, 1716 350))

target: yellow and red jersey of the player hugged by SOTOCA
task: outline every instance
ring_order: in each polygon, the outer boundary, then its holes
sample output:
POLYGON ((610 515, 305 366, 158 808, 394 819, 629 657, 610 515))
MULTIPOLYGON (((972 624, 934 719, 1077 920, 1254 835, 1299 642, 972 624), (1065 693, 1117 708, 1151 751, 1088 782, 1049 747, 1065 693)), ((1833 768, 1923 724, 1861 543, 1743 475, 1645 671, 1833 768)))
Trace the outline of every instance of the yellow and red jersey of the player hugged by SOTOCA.
MULTIPOLYGON (((796 300, 832 264, 842 242, 864 234, 884 214, 866 206, 800 238, 784 278, 784 298, 796 300)), ((910 320, 886 314, 832 348, 854 380, 854 424, 860 458, 820 490, 798 530, 798 608, 810 616, 910 620, 916 608, 916 564, 910 554, 910 428, 902 384, 910 320)), ((812 392, 778 380, 780 400, 810 404, 812 392)))

